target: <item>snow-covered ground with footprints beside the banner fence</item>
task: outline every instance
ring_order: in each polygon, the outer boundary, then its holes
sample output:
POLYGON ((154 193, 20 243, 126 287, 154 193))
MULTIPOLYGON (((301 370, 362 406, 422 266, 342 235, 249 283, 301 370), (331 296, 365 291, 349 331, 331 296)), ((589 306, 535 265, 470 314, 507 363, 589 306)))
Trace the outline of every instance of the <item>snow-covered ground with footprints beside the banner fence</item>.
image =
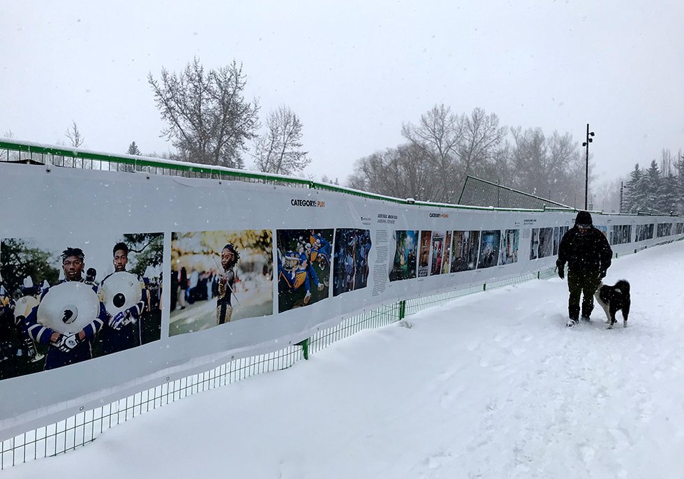
POLYGON ((12 478, 684 477, 684 242, 614 260, 630 327, 558 278, 463 297, 142 415, 12 478))

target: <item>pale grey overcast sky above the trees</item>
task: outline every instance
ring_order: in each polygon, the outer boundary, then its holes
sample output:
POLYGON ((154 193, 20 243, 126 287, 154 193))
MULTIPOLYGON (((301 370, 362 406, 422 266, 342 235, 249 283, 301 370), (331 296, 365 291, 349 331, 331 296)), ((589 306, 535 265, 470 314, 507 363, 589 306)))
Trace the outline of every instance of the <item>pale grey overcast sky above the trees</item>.
POLYGON ((0 52, 0 136, 17 140, 68 142, 73 120, 84 148, 168 152, 147 74, 198 56, 242 62, 262 119, 299 116, 319 179, 436 103, 580 145, 589 123, 600 179, 684 149, 682 0, 6 0, 0 52))

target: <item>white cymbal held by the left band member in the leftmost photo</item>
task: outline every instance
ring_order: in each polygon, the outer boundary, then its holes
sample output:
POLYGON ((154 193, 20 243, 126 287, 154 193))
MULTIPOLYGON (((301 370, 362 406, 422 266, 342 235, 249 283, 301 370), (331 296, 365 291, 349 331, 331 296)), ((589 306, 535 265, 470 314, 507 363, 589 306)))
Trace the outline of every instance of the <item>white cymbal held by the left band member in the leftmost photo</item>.
POLYGON ((38 305, 38 323, 61 334, 75 334, 100 313, 100 299, 87 283, 66 281, 52 286, 38 305))

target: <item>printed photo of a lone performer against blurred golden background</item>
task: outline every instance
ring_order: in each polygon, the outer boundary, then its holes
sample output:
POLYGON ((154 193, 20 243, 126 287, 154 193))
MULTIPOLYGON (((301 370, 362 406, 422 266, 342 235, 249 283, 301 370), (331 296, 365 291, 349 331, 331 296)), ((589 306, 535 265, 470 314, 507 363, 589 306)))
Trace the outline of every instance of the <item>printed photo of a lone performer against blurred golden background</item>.
POLYGON ((171 234, 169 336, 273 314, 271 230, 171 234))

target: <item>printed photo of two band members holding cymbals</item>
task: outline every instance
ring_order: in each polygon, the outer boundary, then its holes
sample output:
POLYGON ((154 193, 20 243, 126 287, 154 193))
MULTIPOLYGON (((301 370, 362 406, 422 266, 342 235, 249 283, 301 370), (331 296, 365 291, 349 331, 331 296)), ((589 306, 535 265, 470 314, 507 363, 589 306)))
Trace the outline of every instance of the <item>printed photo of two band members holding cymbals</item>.
POLYGON ((0 242, 0 379, 161 337, 163 233, 0 242))

